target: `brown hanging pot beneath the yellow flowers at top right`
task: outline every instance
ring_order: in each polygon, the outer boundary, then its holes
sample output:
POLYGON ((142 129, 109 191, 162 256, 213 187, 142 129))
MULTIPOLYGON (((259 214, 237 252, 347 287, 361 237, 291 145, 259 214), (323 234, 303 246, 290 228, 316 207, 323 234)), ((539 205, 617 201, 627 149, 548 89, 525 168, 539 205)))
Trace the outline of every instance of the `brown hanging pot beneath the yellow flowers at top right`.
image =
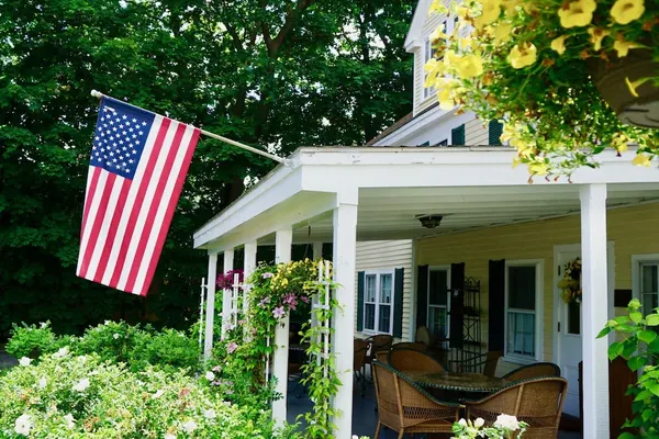
POLYGON ((602 98, 621 122, 659 127, 659 88, 651 80, 659 72, 659 63, 652 60, 650 50, 630 50, 613 63, 600 58, 591 70, 602 98))

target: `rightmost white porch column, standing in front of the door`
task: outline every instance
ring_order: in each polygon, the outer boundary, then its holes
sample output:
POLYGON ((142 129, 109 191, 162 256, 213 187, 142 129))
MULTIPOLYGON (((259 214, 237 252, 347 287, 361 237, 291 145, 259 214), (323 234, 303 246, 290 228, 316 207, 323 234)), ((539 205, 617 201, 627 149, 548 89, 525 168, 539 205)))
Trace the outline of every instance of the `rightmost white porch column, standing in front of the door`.
POLYGON ((606 286, 606 184, 580 188, 583 315, 583 437, 607 438, 607 338, 596 339, 608 315, 606 286))

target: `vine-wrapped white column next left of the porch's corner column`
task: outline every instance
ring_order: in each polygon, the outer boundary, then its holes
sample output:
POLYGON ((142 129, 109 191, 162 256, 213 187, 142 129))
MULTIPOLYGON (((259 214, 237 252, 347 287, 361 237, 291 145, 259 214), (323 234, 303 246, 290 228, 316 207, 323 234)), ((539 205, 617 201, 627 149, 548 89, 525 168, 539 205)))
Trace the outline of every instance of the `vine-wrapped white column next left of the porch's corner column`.
MULTIPOLYGON (((293 230, 278 230, 275 235, 275 262, 290 262, 293 230)), ((288 349, 289 349, 290 316, 281 319, 275 329, 275 354, 272 359, 272 375, 277 379, 277 393, 282 398, 272 402, 272 419, 281 426, 286 421, 287 392, 288 392, 288 349)))

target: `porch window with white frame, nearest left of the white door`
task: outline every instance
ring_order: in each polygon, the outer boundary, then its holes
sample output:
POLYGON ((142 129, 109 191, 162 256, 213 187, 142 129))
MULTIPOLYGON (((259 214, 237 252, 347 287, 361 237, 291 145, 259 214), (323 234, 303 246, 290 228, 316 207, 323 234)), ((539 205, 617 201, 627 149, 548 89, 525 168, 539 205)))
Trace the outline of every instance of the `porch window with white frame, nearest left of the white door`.
POLYGON ((540 266, 537 261, 506 263, 505 354, 509 357, 534 360, 539 353, 540 266))

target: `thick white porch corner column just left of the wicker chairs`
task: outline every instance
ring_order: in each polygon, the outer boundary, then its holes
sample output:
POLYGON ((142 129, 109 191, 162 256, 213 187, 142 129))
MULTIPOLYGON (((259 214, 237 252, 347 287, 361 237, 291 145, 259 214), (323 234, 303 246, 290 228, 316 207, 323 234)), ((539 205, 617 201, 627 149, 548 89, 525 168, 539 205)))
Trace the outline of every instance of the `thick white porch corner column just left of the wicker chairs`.
POLYGON ((336 299, 342 309, 334 311, 332 348, 340 385, 334 408, 340 416, 334 419, 337 438, 353 435, 353 357, 355 331, 355 260, 357 241, 357 198, 355 204, 342 203, 334 210, 334 281, 340 286, 336 299))

